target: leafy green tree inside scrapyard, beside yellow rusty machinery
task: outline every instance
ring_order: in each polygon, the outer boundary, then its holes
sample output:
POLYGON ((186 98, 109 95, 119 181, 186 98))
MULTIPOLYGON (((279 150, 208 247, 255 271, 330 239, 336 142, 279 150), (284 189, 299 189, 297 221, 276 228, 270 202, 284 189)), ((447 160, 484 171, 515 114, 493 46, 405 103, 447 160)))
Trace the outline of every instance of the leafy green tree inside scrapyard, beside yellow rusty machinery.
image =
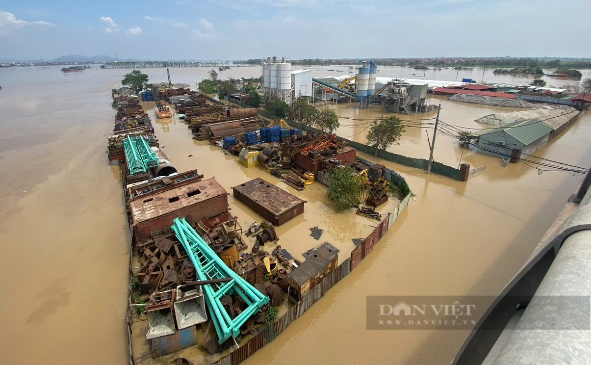
POLYGON ((338 213, 359 205, 361 188, 353 180, 354 173, 350 166, 335 166, 329 171, 330 186, 326 197, 335 205, 338 213))

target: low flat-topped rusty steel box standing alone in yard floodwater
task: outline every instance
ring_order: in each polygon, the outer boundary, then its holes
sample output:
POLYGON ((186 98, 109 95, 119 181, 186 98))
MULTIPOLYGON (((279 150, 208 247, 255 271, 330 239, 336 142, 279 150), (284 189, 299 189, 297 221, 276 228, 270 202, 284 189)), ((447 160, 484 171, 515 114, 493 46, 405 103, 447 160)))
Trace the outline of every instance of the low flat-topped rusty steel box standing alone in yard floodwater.
POLYGON ((282 225, 304 212, 302 199, 260 177, 232 186, 234 197, 273 225, 282 225))

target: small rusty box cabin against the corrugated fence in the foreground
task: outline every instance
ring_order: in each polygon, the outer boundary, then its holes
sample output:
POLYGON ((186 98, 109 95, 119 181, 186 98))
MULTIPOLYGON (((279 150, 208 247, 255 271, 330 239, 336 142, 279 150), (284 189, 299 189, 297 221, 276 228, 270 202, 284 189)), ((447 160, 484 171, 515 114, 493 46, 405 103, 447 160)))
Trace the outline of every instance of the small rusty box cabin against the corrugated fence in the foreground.
POLYGON ((322 282, 337 267, 338 254, 326 244, 313 251, 300 266, 287 277, 290 300, 299 301, 310 289, 322 282))

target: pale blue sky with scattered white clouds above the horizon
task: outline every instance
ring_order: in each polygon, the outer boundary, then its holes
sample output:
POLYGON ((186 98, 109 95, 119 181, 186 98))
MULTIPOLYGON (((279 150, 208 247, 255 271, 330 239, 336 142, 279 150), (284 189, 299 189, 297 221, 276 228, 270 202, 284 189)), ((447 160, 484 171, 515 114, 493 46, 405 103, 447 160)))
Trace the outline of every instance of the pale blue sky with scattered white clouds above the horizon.
POLYGON ((10 1, 0 58, 591 57, 587 0, 10 1))

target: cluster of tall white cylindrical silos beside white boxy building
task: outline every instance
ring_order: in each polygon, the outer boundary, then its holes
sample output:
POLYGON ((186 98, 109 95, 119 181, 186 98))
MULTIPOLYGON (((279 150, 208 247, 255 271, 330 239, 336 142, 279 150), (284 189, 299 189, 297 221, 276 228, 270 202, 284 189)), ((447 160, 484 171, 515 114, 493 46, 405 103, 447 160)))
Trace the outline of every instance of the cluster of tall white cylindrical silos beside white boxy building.
POLYGON ((267 57, 262 63, 262 85, 265 92, 285 101, 291 101, 291 63, 285 62, 285 57, 280 62, 277 57, 267 57))

